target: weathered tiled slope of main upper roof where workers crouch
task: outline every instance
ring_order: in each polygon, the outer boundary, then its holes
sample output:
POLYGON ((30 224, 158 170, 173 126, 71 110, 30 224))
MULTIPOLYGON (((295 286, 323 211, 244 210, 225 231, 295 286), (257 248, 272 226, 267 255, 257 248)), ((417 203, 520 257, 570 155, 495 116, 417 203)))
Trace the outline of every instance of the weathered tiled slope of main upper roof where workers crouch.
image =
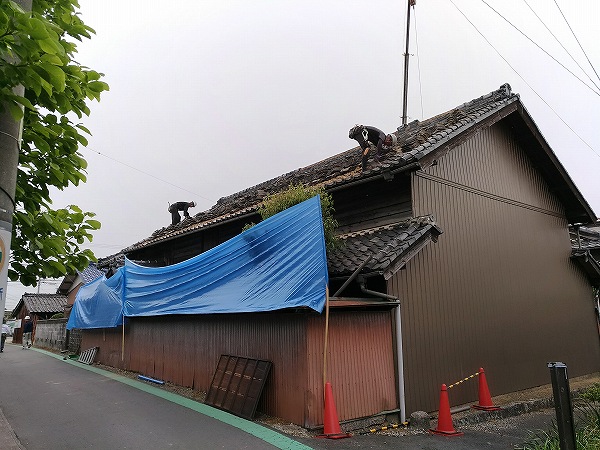
POLYGON ((285 190, 290 184, 321 185, 328 189, 362 178, 381 175, 390 170, 415 169, 419 160, 432 153, 444 142, 474 126, 480 119, 491 116, 505 106, 518 101, 518 98, 518 95, 511 93, 510 86, 505 84, 496 91, 446 113, 422 122, 414 121, 399 128, 395 132, 398 137, 395 151, 384 155, 380 165, 371 164, 367 170, 361 171, 361 152, 359 147, 354 147, 310 166, 223 197, 209 210, 185 218, 176 225, 161 228, 150 237, 125 248, 123 253, 127 254, 179 235, 254 213, 267 195, 285 190))

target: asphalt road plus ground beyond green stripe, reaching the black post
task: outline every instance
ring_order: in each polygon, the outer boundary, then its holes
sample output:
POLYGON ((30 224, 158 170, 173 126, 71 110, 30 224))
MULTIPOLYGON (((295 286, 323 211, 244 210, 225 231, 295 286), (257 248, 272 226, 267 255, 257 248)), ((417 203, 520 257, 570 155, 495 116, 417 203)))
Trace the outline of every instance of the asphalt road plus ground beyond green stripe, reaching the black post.
POLYGON ((292 438, 149 383, 48 352, 7 343, 0 354, 0 446, 11 450, 19 443, 27 450, 501 450, 522 444, 529 430, 548 429, 554 417, 554 410, 544 410, 465 427, 460 430, 464 436, 452 438, 429 433, 292 438), (3 446, 15 435, 15 446, 3 446))

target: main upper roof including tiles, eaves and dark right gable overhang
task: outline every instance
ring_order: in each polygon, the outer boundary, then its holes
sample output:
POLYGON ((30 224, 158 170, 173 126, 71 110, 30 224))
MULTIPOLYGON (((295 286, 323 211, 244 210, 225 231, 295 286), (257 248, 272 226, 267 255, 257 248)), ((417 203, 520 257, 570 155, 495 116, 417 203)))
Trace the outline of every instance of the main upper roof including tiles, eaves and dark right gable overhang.
POLYGON ((532 151, 537 152, 537 159, 541 162, 545 176, 549 178, 552 186, 559 188, 558 194, 567 207, 568 219, 571 222, 594 221, 595 216, 591 208, 539 132, 519 100, 519 96, 511 93, 510 86, 505 84, 496 91, 448 112, 421 122, 414 121, 399 128, 396 132, 398 143, 395 151, 385 155, 380 165, 371 165, 367 170, 361 171, 359 147, 352 148, 310 166, 223 197, 211 209, 187 218, 177 225, 161 228, 122 252, 129 254, 182 235, 256 214, 267 195, 282 191, 290 184, 324 186, 328 191, 334 191, 353 183, 428 167, 451 148, 469 139, 480 128, 489 127, 508 116, 513 117, 511 119, 513 123, 518 117, 520 123, 524 124, 521 129, 529 132, 527 140, 535 145, 526 148, 532 148, 532 151))

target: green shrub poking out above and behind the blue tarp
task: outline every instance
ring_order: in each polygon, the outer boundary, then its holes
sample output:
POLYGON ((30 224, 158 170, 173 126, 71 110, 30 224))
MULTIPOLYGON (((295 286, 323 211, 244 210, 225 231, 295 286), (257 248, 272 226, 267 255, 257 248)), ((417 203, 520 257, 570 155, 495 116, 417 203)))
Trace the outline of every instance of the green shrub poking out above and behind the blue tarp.
MULTIPOLYGON (((339 239, 335 235, 335 229, 337 228, 338 223, 333 217, 333 213, 335 212, 335 209, 333 208, 333 199, 322 187, 305 186, 301 183, 292 184, 285 191, 267 196, 259 207, 258 213, 262 219, 265 220, 285 209, 297 205, 298 203, 302 203, 315 195, 321 197, 321 215, 323 216, 325 246, 327 247, 327 250, 333 250, 340 245, 339 239)), ((248 224, 244 229, 248 229, 253 225, 254 224, 248 224)))

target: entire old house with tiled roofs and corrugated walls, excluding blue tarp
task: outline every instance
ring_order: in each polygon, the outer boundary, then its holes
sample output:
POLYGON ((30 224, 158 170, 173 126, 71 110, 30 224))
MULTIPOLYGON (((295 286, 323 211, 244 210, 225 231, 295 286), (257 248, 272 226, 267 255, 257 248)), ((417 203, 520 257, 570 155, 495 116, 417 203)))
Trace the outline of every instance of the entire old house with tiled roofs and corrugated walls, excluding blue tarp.
MULTIPOLYGON (((352 148, 221 198, 123 251, 169 265, 260 217, 268 194, 324 186, 345 245, 328 254, 327 378, 340 421, 435 411, 439 388, 485 368, 493 395, 600 370, 589 274, 569 224, 596 217, 508 85, 397 131, 395 151, 362 171, 352 148)), ((120 255, 122 256, 122 255, 120 255)), ((109 266, 116 258, 103 261, 109 266)), ((220 355, 272 361, 259 410, 323 423, 324 314, 135 318, 86 330, 98 360, 207 390, 220 355)), ((476 381, 452 405, 477 400, 476 381)))

